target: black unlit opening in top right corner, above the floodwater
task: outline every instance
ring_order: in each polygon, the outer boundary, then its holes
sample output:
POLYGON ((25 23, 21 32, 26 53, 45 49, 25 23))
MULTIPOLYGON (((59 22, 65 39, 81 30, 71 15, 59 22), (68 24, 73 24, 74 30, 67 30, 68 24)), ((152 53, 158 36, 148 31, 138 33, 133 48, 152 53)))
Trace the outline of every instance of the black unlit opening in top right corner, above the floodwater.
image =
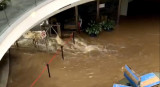
POLYGON ((159 15, 160 0, 133 0, 128 4, 128 16, 159 15))

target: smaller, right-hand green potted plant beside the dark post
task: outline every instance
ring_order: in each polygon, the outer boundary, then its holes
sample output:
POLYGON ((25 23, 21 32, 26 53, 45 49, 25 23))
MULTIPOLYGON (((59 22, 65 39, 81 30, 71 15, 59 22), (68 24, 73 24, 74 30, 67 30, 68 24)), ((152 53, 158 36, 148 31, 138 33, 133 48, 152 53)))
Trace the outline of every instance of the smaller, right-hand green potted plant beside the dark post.
POLYGON ((115 27, 115 21, 114 20, 103 21, 101 23, 101 26, 105 31, 112 31, 115 27))

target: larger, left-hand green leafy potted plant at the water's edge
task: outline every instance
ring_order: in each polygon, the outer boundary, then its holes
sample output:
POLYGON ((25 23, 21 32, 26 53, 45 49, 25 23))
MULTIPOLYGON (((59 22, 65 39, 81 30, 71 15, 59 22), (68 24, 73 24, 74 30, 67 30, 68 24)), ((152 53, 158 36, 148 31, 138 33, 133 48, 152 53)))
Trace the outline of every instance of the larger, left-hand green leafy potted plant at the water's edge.
POLYGON ((89 27, 86 29, 86 32, 91 37, 96 37, 102 31, 102 26, 100 24, 96 24, 94 21, 91 21, 88 25, 89 27))

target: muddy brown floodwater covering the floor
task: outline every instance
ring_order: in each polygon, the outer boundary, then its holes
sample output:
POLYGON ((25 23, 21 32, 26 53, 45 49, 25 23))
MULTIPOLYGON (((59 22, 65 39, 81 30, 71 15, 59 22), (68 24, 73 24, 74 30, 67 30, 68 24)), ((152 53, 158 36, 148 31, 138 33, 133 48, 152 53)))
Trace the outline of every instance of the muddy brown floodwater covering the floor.
MULTIPOLYGON (((51 78, 45 71, 34 87, 112 87, 124 78, 125 64, 139 74, 159 72, 159 29, 158 16, 130 17, 96 38, 81 33, 77 38, 83 43, 77 44, 83 46, 65 46, 65 60, 57 55, 50 64, 51 78)), ((12 48, 7 87, 30 87, 53 54, 12 48)))

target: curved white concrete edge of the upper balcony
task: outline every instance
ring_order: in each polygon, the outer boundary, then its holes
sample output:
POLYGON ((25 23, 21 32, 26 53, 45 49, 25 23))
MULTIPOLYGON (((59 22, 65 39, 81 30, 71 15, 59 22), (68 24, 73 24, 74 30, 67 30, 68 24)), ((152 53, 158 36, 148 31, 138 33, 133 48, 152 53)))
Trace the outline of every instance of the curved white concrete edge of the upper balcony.
POLYGON ((24 13, 0 36, 0 60, 27 30, 66 9, 92 1, 94 0, 46 0, 24 13))

